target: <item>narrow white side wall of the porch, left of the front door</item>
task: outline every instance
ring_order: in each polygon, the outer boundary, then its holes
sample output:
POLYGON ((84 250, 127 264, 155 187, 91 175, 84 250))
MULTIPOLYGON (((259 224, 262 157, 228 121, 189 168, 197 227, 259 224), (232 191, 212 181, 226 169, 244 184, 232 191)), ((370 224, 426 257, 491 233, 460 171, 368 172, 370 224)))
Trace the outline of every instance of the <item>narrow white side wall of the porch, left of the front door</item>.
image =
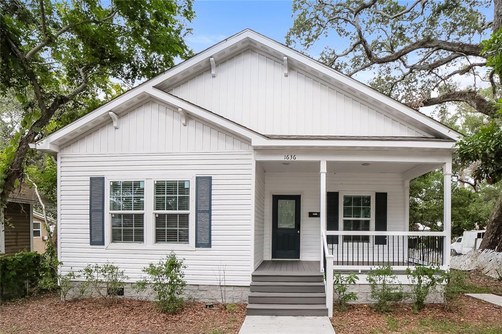
POLYGON ((263 261, 265 224, 265 171, 259 164, 255 174, 255 263, 256 269, 263 261))

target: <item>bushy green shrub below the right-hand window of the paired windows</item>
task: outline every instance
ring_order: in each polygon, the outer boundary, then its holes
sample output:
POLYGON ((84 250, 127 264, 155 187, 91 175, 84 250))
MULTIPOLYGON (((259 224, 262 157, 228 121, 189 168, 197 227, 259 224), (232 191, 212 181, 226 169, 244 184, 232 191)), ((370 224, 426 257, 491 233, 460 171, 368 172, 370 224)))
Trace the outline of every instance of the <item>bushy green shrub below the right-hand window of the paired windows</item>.
POLYGON ((148 277, 137 282, 135 289, 145 291, 151 286, 156 293, 155 302, 159 309, 162 312, 174 313, 183 306, 183 298, 180 295, 186 286, 183 280, 185 268, 183 260, 178 260, 171 252, 157 264, 150 263, 148 267, 143 268, 148 277))

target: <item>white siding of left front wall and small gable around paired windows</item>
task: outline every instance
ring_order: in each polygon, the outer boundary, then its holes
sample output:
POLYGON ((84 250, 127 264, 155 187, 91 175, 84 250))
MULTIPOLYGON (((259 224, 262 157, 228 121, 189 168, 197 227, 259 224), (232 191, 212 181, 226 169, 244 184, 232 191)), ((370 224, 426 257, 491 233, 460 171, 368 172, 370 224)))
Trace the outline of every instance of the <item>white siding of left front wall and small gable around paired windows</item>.
MULTIPOLYGON (((253 151, 249 144, 214 125, 180 115, 156 101, 120 115, 118 129, 110 123, 63 147, 60 167, 60 249, 63 273, 87 264, 114 263, 130 281, 142 269, 173 250, 185 259, 188 284, 217 284, 215 272, 225 265, 228 285, 249 285, 252 269, 253 151), (212 177, 211 247, 154 244, 152 211, 145 211, 145 244, 110 243, 105 204, 105 245, 89 245, 89 178, 110 180, 191 180, 191 219, 195 221, 195 177, 212 177), (150 230, 150 232, 148 232, 150 230), (150 235, 148 234, 150 233, 150 235)), ((151 180, 151 181, 149 181, 151 180)), ((147 186, 151 185, 151 186, 147 186)), ((153 188, 150 188, 153 189, 153 188)), ((149 205, 146 188, 145 207, 149 205)), ((109 197, 105 187, 105 203, 109 197)), ((153 194, 152 194, 153 196, 153 194)), ((152 201, 151 199, 150 201, 152 201)), ((152 202, 150 205, 153 206, 152 202)), ((150 210, 150 209, 149 209, 150 210)))

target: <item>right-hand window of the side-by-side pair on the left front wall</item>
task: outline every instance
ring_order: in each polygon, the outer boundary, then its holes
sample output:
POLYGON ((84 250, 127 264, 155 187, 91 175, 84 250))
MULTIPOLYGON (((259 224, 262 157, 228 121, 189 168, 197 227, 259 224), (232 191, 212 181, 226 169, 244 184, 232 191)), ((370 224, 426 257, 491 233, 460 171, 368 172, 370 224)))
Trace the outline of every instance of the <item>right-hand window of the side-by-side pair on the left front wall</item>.
POLYGON ((155 181, 156 243, 188 243, 190 181, 155 181))

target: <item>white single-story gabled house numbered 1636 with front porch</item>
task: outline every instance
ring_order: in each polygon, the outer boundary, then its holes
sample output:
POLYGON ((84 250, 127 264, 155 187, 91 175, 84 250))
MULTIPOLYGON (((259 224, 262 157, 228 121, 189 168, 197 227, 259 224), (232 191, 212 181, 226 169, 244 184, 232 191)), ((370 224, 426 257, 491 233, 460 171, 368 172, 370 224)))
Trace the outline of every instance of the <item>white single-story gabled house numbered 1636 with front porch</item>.
POLYGON ((244 30, 32 147, 57 158, 63 273, 111 262, 134 282, 174 251, 196 299, 224 266, 248 314, 322 315, 333 270, 448 267, 460 137, 244 30), (409 232, 409 182, 437 168, 444 231, 409 232))

